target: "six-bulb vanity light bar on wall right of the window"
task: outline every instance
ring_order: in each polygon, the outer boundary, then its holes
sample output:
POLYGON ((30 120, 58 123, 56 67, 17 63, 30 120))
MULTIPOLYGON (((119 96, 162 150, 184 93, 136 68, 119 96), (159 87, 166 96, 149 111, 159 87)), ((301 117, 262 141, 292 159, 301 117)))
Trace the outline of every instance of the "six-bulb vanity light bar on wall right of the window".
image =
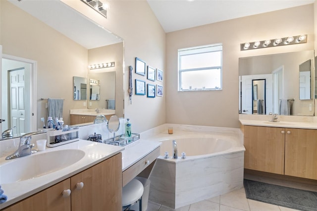
POLYGON ((307 35, 284 37, 273 40, 256 41, 251 43, 242 43, 240 44, 240 51, 262 49, 275 46, 286 46, 300 43, 307 43, 307 35))

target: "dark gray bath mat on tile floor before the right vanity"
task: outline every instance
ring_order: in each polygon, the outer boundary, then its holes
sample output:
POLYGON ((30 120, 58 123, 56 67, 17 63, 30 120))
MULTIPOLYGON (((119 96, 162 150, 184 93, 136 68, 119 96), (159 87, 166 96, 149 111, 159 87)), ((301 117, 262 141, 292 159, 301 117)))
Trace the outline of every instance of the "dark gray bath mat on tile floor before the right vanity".
POLYGON ((317 211, 317 192, 244 179, 247 199, 302 211, 317 211))

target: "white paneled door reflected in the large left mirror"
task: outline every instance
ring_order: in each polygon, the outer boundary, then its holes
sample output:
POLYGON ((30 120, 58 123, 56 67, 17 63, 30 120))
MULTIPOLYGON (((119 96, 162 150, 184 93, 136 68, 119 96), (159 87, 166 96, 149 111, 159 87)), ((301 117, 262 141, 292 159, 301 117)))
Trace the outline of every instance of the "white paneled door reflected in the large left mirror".
POLYGON ((10 127, 16 126, 13 135, 24 134, 25 131, 25 70, 9 71, 10 91, 10 127))

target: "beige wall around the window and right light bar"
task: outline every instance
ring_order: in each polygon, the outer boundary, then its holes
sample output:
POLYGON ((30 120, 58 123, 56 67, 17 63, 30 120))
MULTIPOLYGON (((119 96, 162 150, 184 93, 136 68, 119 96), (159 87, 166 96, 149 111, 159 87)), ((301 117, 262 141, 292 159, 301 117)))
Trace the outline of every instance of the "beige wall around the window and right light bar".
POLYGON ((314 50, 314 42, 313 4, 167 33, 166 122, 239 127, 239 57, 314 50), (306 44, 240 52, 240 43, 301 34, 306 44), (178 92, 177 50, 215 43, 223 44, 222 90, 178 92))

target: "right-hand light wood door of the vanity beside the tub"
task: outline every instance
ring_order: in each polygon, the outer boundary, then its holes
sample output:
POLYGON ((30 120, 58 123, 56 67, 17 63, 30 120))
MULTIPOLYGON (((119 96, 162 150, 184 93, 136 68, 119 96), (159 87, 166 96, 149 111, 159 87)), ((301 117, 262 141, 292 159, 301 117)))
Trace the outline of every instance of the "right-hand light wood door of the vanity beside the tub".
POLYGON ((285 175, 317 179, 317 130, 286 128, 285 175))

